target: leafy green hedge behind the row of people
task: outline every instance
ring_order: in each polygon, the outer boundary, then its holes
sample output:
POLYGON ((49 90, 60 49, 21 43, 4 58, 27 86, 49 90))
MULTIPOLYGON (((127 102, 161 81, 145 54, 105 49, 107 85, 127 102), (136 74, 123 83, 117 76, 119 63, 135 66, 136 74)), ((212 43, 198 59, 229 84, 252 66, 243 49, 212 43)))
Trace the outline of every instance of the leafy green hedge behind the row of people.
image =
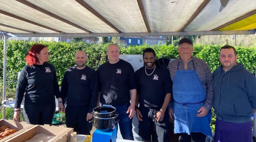
MULTIPOLYGON (((78 50, 85 50, 88 54, 87 65, 97 69, 99 65, 107 60, 107 46, 108 44, 87 44, 85 42, 46 42, 46 41, 7 41, 7 86, 15 88, 17 75, 25 65, 25 57, 30 47, 40 43, 48 47, 50 57, 49 62, 53 64, 57 71, 57 78, 61 84, 62 77, 65 71, 75 65, 75 53, 78 50)), ((157 58, 161 58, 162 54, 166 58, 177 58, 177 46, 172 45, 149 45, 143 44, 141 46, 123 46, 120 45, 120 54, 142 54, 143 50, 151 47, 156 51, 157 58)), ((220 45, 194 45, 194 56, 206 61, 212 71, 220 66, 219 49, 220 45)), ((0 79, 3 78, 3 40, 0 41, 0 79)), ((245 65, 249 71, 255 74, 255 47, 235 47, 238 53, 238 62, 245 65)), ((2 81, 0 82, 0 85, 2 81)))

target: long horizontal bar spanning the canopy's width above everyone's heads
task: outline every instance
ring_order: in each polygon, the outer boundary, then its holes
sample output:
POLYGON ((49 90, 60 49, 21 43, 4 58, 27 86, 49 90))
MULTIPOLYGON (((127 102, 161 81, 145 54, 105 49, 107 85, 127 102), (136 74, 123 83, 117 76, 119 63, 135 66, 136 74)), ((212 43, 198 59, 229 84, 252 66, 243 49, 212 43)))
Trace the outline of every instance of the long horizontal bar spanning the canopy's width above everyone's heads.
MULTIPOLYGON (((240 31, 198 31, 198 32, 150 32, 150 33, 35 33, 22 34, 12 33, 16 37, 118 37, 118 36, 186 36, 186 35, 234 35, 234 34, 255 34, 256 30, 240 31)), ((1 34, 0 34, 1 35, 1 34)), ((10 35, 11 36, 11 35, 10 35)), ((11 37, 14 37, 11 36, 11 37)))

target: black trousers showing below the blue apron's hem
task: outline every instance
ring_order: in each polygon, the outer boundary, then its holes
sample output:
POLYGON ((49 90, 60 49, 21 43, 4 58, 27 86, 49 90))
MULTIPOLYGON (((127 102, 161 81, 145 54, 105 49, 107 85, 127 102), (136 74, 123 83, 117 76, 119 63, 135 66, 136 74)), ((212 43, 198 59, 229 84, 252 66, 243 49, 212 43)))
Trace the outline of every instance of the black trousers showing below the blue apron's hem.
POLYGON ((179 142, 191 142, 191 138, 193 142, 205 142, 206 139, 206 135, 200 132, 192 132, 191 135, 188 135, 188 133, 180 133, 179 135, 179 142))

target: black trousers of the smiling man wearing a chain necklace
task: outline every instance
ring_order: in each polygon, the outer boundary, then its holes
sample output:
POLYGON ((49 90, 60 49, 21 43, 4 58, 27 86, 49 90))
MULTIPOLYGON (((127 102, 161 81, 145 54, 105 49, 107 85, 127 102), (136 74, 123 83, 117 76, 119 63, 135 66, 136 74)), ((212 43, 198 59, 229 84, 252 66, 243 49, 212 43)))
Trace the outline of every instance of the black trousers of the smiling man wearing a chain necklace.
POLYGON ((154 115, 160 108, 150 109, 146 107, 139 108, 143 121, 139 121, 140 136, 142 141, 146 142, 169 142, 169 115, 165 111, 163 121, 157 122, 154 115), (152 139, 151 139, 152 137, 152 139))

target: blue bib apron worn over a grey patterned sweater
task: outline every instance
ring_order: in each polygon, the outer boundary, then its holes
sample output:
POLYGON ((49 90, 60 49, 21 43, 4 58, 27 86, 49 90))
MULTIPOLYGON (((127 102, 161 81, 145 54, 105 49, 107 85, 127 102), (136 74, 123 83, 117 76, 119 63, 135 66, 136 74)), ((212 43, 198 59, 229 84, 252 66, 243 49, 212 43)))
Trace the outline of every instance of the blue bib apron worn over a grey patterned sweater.
MULTIPOLYGON (((193 62, 193 60, 192 60, 193 62)), ((173 80, 174 133, 201 132, 212 136, 210 122, 211 110, 204 117, 196 117, 198 109, 203 106, 206 91, 194 70, 179 70, 173 80)))

